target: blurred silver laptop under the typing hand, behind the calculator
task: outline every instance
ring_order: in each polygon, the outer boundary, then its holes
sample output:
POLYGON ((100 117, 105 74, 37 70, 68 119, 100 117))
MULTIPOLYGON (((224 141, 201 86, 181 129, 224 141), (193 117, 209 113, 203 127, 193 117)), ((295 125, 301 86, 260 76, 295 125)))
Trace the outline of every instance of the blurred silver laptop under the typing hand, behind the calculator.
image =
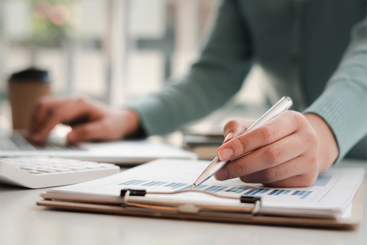
POLYGON ((34 155, 121 165, 138 165, 158 158, 197 159, 193 152, 148 139, 68 145, 65 133, 62 136, 53 131, 48 141, 36 145, 26 140, 22 130, 0 129, 1 157, 34 155))

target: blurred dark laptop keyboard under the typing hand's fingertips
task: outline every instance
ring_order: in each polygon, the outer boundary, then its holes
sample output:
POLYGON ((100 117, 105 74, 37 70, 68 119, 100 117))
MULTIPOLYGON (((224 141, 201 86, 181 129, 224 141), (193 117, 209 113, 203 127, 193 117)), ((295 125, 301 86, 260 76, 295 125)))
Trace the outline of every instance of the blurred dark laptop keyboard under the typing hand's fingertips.
POLYGON ((12 133, 7 134, 4 131, 0 132, 0 149, 3 151, 18 151, 18 150, 70 150, 75 149, 76 147, 65 145, 65 144, 56 144, 52 141, 48 141, 42 144, 34 144, 25 137, 22 136, 17 131, 12 131, 12 133))

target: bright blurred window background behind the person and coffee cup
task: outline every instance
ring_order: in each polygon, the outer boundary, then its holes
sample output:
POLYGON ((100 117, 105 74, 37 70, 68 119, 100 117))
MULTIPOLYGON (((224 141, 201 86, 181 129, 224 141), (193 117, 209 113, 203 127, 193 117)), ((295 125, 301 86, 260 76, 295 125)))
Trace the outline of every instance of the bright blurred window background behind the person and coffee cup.
MULTIPOLYGON (((7 79, 32 66, 50 72, 55 95, 86 94, 122 105, 159 90, 166 78, 189 69, 218 4, 219 0, 1 0, 0 115, 11 117, 7 79)), ((253 77, 249 80, 259 80, 253 77)), ((246 86, 251 89, 231 103, 262 104, 259 84, 246 86)))

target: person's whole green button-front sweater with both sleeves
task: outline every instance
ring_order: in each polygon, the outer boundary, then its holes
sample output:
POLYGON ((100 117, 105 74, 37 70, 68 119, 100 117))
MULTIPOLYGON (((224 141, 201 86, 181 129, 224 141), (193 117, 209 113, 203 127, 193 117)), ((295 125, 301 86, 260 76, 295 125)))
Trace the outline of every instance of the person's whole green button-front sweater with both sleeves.
POLYGON ((367 132, 366 3, 223 1, 185 78, 128 107, 147 135, 168 133, 221 107, 259 64, 273 94, 328 123, 340 160, 367 132))

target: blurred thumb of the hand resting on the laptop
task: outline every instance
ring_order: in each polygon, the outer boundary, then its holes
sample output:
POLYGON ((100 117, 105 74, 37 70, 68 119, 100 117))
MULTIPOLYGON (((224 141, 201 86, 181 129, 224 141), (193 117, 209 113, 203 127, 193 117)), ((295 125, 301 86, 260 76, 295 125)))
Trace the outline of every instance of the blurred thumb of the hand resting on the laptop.
POLYGON ((72 127, 72 131, 68 134, 67 140, 70 143, 91 140, 111 139, 108 127, 103 120, 83 123, 72 127))

